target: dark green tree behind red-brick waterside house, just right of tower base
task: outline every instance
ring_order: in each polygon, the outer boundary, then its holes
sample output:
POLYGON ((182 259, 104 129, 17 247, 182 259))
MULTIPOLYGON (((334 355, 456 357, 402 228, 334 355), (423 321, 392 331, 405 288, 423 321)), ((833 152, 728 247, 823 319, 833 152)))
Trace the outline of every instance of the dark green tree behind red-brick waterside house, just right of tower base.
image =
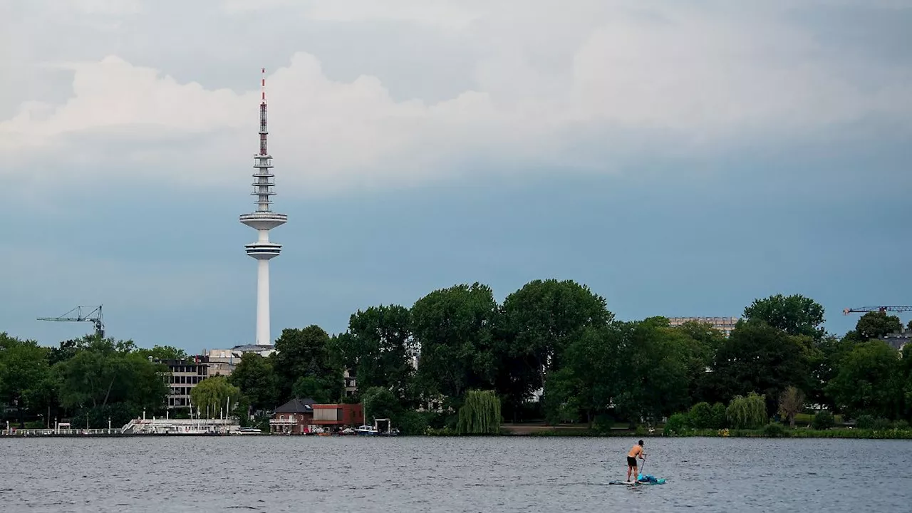
POLYGON ((341 398, 342 369, 332 358, 329 335, 319 326, 282 330, 271 358, 275 359, 273 368, 278 377, 280 401, 291 398, 295 383, 304 377, 314 378, 326 398, 332 401, 341 398))

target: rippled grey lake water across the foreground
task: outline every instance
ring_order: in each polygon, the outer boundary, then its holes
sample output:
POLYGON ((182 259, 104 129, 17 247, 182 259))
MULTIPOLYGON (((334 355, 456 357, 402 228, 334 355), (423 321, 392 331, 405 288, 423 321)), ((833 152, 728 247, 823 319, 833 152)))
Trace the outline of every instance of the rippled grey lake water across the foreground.
POLYGON ((912 441, 232 436, 0 439, 0 510, 908 511, 912 441))

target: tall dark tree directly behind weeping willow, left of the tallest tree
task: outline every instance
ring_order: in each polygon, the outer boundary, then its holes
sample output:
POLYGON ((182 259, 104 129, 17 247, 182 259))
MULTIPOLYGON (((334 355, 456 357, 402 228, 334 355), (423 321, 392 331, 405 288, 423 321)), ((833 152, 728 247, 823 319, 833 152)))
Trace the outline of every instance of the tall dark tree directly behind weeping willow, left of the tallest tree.
POLYGON ((491 288, 479 283, 435 290, 415 302, 412 330, 420 344, 418 377, 424 393, 452 400, 470 388, 492 385, 497 313, 491 288))

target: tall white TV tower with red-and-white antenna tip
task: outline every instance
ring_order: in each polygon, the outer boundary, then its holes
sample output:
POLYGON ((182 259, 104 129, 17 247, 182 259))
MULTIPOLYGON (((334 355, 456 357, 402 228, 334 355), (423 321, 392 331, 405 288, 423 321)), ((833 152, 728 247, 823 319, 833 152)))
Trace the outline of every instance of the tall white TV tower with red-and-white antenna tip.
POLYGON ((273 174, 273 157, 266 152, 266 69, 263 68, 262 102, 260 103, 260 152, 254 155, 254 192, 256 210, 251 214, 241 215, 241 223, 256 230, 257 241, 245 245, 247 256, 256 259, 256 345, 269 346, 273 341, 269 335, 269 260, 279 256, 281 244, 269 241, 269 230, 285 225, 288 216, 275 214, 269 210, 272 204, 270 197, 275 195, 275 174, 273 174))

